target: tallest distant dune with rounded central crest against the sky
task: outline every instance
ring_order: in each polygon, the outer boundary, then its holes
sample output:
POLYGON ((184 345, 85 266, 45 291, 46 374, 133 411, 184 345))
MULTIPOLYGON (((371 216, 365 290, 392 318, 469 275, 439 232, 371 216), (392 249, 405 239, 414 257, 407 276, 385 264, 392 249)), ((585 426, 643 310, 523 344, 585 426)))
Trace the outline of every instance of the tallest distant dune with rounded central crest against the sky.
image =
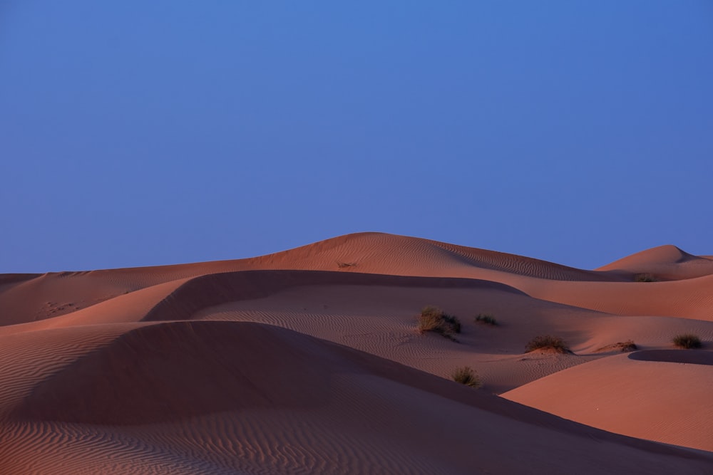
MULTIPOLYGON (((304 269, 404 276, 481 278, 491 273, 540 278, 602 280, 606 273, 580 271, 511 254, 380 233, 360 233, 289 251, 235 261, 90 272, 12 274, 0 287, 1 325, 52 318, 124 293, 212 273, 259 269, 304 269), (16 283, 19 281, 20 283, 16 283), (9 284, 8 284, 9 285, 9 284), (3 291, 4 290, 4 291, 3 291), (71 298, 70 298, 71 296, 71 298)), ((497 279, 491 279, 497 280, 497 279)), ((0 284, 4 282, 0 280, 0 284)))

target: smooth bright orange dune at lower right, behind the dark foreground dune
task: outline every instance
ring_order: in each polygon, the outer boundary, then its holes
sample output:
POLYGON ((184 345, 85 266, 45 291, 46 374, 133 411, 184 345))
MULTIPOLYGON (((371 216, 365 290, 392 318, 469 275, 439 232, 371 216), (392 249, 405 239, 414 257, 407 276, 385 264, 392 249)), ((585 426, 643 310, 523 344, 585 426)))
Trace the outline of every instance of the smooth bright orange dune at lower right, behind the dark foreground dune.
POLYGON ((713 353, 662 350, 589 362, 503 397, 611 432, 713 451, 713 406, 701 404, 712 392, 713 353))

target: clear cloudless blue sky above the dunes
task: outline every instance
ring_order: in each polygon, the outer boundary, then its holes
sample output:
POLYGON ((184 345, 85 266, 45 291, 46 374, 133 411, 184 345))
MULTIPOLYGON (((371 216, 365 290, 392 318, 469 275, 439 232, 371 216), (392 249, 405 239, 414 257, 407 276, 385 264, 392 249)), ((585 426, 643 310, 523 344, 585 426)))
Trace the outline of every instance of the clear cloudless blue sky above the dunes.
POLYGON ((709 0, 0 0, 0 273, 710 255, 712 179, 709 0))

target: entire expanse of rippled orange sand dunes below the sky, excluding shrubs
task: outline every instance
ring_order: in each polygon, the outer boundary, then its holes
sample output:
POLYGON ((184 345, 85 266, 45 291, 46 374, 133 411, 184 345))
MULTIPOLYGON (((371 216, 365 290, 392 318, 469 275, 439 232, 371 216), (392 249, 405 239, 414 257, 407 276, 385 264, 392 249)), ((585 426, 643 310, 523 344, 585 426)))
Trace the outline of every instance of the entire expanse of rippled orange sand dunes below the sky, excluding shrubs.
POLYGON ((713 260, 674 246, 584 271, 362 233, 5 274, 0 325, 0 474, 713 473, 713 260), (548 334, 571 353, 525 353, 548 334))

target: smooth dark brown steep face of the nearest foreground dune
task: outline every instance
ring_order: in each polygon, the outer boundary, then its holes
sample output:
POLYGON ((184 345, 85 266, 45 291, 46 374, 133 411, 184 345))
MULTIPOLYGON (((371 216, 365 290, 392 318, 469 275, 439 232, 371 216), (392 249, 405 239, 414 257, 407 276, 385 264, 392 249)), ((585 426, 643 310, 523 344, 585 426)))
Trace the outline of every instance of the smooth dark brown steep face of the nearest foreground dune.
POLYGON ((309 340, 252 323, 142 326, 41 381, 14 417, 120 425, 312 407, 339 364, 309 340))

